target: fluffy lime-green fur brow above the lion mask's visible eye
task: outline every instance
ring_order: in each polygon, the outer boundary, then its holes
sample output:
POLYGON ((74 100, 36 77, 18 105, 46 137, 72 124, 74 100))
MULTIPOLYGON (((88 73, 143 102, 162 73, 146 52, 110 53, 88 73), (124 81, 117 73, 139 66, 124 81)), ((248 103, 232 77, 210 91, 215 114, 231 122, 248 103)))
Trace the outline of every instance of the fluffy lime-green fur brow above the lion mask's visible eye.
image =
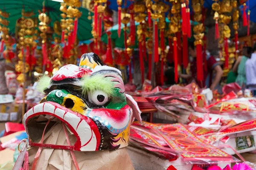
POLYGON ((114 83, 111 82, 111 78, 104 77, 102 74, 83 77, 82 82, 82 94, 84 95, 89 91, 93 92, 96 90, 104 91, 108 96, 114 96, 115 94, 114 83))

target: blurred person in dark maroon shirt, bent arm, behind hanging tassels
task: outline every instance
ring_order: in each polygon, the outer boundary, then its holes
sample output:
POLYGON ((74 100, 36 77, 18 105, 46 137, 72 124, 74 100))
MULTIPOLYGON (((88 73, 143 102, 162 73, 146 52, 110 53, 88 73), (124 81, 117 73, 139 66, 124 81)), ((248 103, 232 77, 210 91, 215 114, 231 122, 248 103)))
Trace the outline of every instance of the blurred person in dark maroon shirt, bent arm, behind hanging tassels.
MULTIPOLYGON (((192 57, 192 61, 190 62, 191 74, 187 75, 187 74, 179 73, 179 76, 183 79, 196 79, 196 75, 197 75, 196 56, 197 55, 196 55, 196 48, 195 48, 194 42, 189 42, 189 55, 192 57)), ((207 71, 204 71, 204 81, 203 82, 197 81, 197 83, 201 88, 204 88, 205 86, 207 86, 207 88, 210 88, 211 90, 215 90, 216 88, 218 89, 218 84, 221 80, 223 70, 221 66, 218 64, 218 62, 215 60, 215 57, 212 55, 209 55, 209 53, 207 53, 206 64, 207 64, 207 71), (213 71, 215 71, 214 78, 213 78, 213 71)))

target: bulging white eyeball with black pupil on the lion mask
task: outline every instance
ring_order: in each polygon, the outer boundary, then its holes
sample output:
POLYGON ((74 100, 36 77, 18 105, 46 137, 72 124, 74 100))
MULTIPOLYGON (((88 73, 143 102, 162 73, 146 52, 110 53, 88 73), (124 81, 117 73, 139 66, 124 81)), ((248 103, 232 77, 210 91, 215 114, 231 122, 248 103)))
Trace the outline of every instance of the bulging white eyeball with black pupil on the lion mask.
POLYGON ((89 93, 89 101, 96 105, 104 105, 108 102, 108 95, 103 91, 94 91, 89 93))

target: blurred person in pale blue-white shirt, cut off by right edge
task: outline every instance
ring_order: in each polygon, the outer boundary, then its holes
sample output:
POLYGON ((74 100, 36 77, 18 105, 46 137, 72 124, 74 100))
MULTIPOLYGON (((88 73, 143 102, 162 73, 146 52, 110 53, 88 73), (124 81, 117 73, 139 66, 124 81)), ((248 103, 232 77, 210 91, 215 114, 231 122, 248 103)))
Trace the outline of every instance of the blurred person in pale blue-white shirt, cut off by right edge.
POLYGON ((245 74, 247 87, 256 95, 256 43, 253 45, 250 59, 245 62, 245 74))

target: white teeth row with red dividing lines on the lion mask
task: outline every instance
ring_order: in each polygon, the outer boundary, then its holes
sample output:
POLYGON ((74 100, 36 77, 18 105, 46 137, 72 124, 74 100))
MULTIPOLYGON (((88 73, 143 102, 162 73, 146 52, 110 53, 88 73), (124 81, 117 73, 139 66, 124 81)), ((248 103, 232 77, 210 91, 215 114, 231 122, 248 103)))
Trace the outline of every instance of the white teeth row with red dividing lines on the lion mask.
POLYGON ((26 119, 31 116, 32 114, 35 113, 52 113, 55 114, 56 116, 64 119, 66 122, 68 122, 78 133, 78 136, 80 137, 81 140, 81 146, 86 144, 90 139, 91 136, 93 138, 91 141, 84 147, 81 148, 81 151, 87 151, 87 150, 92 150, 92 148, 96 148, 96 136, 92 132, 90 126, 85 122, 84 120, 81 120, 79 117, 77 117, 75 114, 72 114, 70 112, 65 112, 64 110, 61 110, 60 108, 56 108, 55 106, 50 104, 50 103, 40 103, 36 105, 34 108, 31 108, 29 111, 26 112, 26 114, 23 117, 23 125, 25 126, 26 129, 26 119))

